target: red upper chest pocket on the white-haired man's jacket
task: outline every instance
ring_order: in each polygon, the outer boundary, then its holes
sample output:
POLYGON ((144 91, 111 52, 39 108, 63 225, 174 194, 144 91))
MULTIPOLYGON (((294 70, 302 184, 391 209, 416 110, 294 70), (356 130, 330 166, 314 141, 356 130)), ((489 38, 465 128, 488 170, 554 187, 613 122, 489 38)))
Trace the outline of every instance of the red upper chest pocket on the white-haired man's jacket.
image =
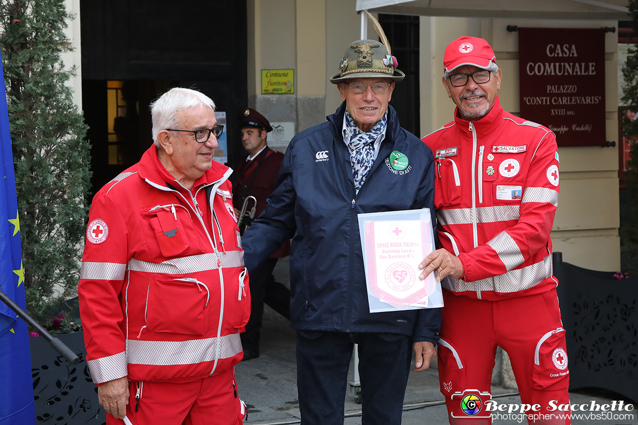
POLYGON ((149 216, 147 220, 164 257, 201 252, 189 212, 182 205, 158 205, 143 214, 149 216))

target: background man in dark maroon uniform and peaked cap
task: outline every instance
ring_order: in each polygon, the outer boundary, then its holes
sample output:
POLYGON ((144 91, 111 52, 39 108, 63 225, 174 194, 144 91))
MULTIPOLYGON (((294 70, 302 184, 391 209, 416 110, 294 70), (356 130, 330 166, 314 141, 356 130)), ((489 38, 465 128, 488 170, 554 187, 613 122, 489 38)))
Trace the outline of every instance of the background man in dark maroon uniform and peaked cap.
MULTIPOLYGON (((248 155, 239 158, 235 167, 238 177, 233 188, 234 206, 236 213, 239 214, 244 200, 249 196, 255 197, 257 202, 254 218, 257 218, 266 206, 266 199, 275 189, 283 153, 273 151, 266 145, 267 133, 272 131, 272 126, 262 114, 253 108, 246 108, 239 113, 239 122, 242 144, 248 151, 248 155)), ((248 201, 248 204, 248 208, 253 206, 252 201, 248 201)), ((242 218, 242 223, 249 225, 250 221, 248 216, 242 218)), ((259 357, 259 331, 262 328, 264 302, 290 320, 290 290, 282 283, 276 282, 272 275, 277 260, 288 255, 290 255, 290 242, 286 241, 278 251, 250 274, 250 319, 246 324, 246 332, 241 334, 244 348, 243 360, 259 357)))

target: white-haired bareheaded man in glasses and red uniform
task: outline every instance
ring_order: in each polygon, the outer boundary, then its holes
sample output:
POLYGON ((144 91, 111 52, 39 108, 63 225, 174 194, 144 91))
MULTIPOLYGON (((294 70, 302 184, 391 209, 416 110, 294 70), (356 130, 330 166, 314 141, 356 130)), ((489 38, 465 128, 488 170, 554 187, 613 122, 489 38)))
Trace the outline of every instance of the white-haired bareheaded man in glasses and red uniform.
POLYGON ((101 188, 78 288, 87 361, 107 424, 241 424, 234 366, 248 277, 223 126, 202 93, 151 105, 154 144, 101 188))

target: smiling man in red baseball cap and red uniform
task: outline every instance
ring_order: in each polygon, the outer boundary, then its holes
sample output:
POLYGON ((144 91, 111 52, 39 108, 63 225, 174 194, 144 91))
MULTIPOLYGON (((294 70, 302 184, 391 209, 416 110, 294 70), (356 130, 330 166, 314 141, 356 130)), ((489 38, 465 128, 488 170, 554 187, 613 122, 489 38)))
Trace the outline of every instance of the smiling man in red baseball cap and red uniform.
POLYGON ((442 248, 422 262, 421 278, 438 269, 443 287, 438 366, 450 424, 490 423, 489 412, 460 404, 465 390, 489 392, 497 345, 510 357, 521 401, 549 414, 551 400, 569 403, 549 237, 560 188, 556 138, 501 108, 501 70, 487 41, 452 41, 443 62, 457 108, 452 123, 423 138, 436 163, 442 248))

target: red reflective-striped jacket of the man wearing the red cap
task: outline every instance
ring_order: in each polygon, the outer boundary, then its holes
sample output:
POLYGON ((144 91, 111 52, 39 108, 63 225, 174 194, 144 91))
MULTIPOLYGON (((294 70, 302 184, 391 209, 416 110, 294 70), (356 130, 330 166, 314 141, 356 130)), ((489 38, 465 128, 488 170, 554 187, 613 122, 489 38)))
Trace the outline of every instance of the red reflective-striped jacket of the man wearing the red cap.
POLYGON ((436 163, 441 246, 464 269, 463 280, 447 276, 441 285, 491 301, 555 287, 549 237, 560 189, 554 133, 505 112, 498 98, 479 121, 454 116, 423 138, 436 163))

